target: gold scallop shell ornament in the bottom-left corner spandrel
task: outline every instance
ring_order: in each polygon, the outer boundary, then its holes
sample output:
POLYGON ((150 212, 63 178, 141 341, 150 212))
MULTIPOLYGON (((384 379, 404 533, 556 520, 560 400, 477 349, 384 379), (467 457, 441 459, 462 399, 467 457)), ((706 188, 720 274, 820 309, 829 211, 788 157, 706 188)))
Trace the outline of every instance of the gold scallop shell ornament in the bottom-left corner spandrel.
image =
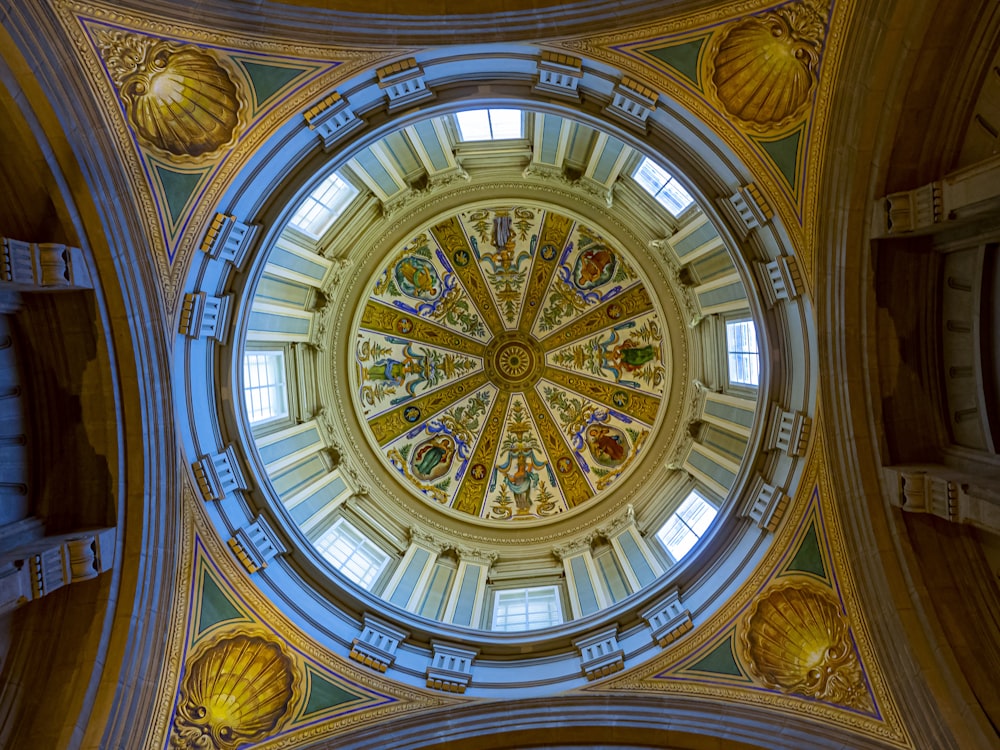
POLYGON ((236 750, 264 739, 288 713, 296 682, 275 641, 244 634, 212 641, 186 665, 171 747, 236 750))

